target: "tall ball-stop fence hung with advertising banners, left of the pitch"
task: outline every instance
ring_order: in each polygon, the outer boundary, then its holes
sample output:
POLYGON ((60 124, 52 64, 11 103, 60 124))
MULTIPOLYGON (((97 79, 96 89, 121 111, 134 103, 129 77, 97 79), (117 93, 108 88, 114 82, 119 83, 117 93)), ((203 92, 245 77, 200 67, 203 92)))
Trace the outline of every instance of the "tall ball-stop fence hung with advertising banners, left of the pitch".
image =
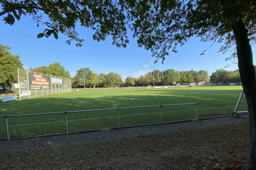
POLYGON ((19 100, 71 92, 71 80, 18 69, 19 100))

